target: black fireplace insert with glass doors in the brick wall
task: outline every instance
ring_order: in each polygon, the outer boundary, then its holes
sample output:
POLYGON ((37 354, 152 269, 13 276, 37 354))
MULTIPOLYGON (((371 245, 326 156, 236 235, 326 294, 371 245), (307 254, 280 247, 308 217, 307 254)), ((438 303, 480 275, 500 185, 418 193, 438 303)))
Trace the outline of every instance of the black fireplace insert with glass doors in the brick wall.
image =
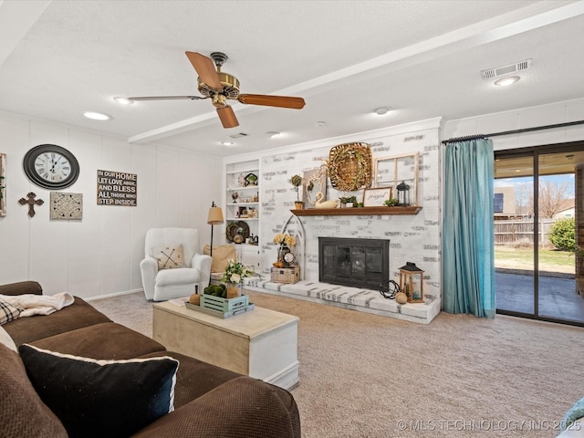
POLYGON ((389 271, 389 240, 318 237, 321 283, 379 289, 389 271))

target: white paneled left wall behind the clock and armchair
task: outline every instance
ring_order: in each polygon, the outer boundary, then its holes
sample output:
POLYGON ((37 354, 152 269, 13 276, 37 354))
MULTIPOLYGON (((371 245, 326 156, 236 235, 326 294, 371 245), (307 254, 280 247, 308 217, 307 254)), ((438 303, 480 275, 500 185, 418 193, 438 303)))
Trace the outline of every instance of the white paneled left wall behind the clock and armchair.
POLYGON ((221 199, 221 160, 163 145, 123 139, 57 123, 0 115, 6 154, 7 214, 0 217, 0 284, 33 279, 45 293, 105 297, 141 289, 146 230, 184 226, 209 242, 209 206, 221 199), (22 160, 30 148, 54 143, 78 159, 78 181, 63 192, 83 193, 81 221, 49 220, 50 192, 30 183, 22 160), (97 205, 97 170, 138 175, 138 206, 97 205), (205 184, 202 182, 216 182, 205 184), (18 199, 34 192, 45 203, 29 218, 18 199))

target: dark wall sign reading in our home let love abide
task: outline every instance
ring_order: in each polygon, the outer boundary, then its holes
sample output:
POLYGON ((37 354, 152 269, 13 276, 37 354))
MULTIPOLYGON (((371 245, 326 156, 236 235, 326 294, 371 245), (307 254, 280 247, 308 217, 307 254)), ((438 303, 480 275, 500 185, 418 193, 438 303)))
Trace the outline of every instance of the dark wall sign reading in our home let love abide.
POLYGON ((98 171, 98 205, 138 205, 138 175, 98 171))

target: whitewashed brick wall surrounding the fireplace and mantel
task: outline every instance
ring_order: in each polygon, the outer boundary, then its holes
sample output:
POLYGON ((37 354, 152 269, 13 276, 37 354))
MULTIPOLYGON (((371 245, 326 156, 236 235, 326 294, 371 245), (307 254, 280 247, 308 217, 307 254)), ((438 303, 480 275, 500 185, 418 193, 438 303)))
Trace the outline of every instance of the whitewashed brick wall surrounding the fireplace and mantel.
MULTIPOLYGON (((294 174, 317 168, 328 158, 331 147, 341 142, 364 141, 371 145, 373 159, 419 152, 418 203, 422 211, 417 215, 372 216, 302 216, 306 231, 302 272, 304 280, 318 282, 318 236, 390 239, 390 274, 397 281, 399 268, 413 262, 424 271, 424 294, 441 297, 441 175, 442 149, 439 121, 411 124, 397 132, 380 135, 362 133, 352 140, 331 142, 310 150, 295 150, 262 157, 260 200, 261 266, 269 278, 269 268, 276 261, 276 245, 272 237, 282 231, 294 209, 296 193, 288 182, 294 174)), ((299 148, 298 148, 299 149, 299 148)), ((329 184, 329 183, 328 183, 329 184)), ((354 193, 358 199, 362 195, 354 193)), ((394 197, 395 194, 394 194, 394 197)), ((327 199, 338 199, 339 193, 330 185, 327 199)))

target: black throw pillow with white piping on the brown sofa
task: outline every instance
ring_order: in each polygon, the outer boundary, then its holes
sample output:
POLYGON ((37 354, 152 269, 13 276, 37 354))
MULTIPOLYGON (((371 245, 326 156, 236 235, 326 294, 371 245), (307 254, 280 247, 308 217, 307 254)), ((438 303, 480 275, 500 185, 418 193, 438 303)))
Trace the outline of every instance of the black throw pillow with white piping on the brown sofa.
POLYGON ((70 438, 128 437, 174 410, 179 362, 168 356, 93 360, 18 348, 36 392, 70 438))

